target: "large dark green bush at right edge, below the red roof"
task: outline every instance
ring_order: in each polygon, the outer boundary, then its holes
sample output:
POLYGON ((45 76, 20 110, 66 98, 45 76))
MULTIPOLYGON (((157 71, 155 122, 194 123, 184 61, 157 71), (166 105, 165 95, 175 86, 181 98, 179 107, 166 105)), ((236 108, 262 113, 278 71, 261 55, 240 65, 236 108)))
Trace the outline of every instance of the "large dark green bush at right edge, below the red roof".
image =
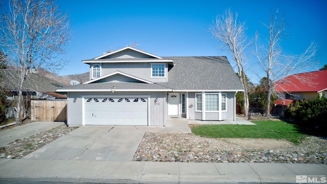
POLYGON ((301 125, 327 127, 327 98, 296 101, 285 109, 284 117, 301 125))

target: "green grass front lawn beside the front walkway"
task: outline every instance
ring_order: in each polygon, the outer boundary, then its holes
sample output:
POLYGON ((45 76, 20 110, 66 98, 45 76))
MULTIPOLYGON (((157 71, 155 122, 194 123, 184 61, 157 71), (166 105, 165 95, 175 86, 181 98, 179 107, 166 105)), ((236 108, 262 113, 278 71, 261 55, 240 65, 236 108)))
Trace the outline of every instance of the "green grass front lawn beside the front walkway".
POLYGON ((284 121, 255 121, 255 125, 199 125, 192 127, 196 135, 211 138, 283 139, 299 144, 307 137, 294 124, 284 121))

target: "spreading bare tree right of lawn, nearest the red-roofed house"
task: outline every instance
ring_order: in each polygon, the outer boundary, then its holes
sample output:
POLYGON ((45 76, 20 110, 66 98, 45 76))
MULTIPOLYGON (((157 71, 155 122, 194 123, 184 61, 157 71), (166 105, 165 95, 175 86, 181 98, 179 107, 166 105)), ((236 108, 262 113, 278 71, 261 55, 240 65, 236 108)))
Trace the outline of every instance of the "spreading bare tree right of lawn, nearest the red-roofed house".
MULTIPOLYGON (((282 79, 292 73, 301 72, 303 69, 315 67, 317 54, 317 45, 311 42, 307 50, 298 56, 283 55, 280 45, 283 38, 287 37, 286 22, 284 15, 278 16, 276 13, 271 13, 268 25, 264 24, 269 30, 269 36, 266 39, 266 44, 259 43, 259 33, 255 34, 255 55, 259 60, 267 77, 267 109, 266 117, 270 117, 270 97, 275 93, 274 87, 282 82, 282 79)), ((302 82, 310 83, 310 79, 302 78, 302 82)))

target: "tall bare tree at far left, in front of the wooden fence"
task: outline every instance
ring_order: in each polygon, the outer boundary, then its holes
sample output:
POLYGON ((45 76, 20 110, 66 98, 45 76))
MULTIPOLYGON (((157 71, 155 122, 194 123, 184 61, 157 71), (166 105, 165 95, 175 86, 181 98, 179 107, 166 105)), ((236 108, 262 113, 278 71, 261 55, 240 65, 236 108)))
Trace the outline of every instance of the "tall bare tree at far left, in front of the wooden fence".
MULTIPOLYGON (((24 120, 22 92, 31 69, 57 72, 65 65, 61 58, 72 38, 66 13, 52 0, 12 0, 0 21, 0 45, 7 55, 12 75, 19 78, 16 121, 24 120)), ((10 77, 10 76, 8 76, 10 77)))

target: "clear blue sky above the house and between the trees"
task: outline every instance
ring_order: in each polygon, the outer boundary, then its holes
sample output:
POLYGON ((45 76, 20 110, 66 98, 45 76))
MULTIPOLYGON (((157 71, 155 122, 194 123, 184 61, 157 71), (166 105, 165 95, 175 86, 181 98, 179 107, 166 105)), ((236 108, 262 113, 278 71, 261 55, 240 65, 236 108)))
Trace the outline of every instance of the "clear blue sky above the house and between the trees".
MULTIPOLYGON (((289 37, 282 42, 286 54, 300 54, 312 40, 319 45, 318 70, 327 64, 327 1, 67 1, 57 0, 62 11, 72 19, 74 38, 68 45, 69 64, 59 75, 88 72, 82 60, 95 58, 132 42, 138 49, 165 56, 227 56, 208 32, 213 18, 231 8, 239 20, 246 21, 248 37, 255 31, 267 33, 262 22, 268 22, 271 11, 285 13, 289 37)), ((249 51, 247 75, 252 82, 258 65, 249 51)), ((309 71, 314 71, 310 68, 309 71)), ((309 72, 308 71, 308 72, 309 72)), ((260 74, 259 74, 260 75, 260 74)))

